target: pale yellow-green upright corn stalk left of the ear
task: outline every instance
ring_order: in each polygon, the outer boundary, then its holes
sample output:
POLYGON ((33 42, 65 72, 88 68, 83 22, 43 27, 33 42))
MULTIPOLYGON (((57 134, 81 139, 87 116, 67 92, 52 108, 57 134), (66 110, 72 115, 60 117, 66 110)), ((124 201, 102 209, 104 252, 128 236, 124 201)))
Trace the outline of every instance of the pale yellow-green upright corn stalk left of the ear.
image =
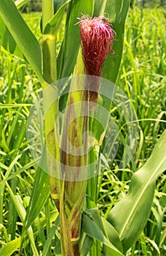
MULTIPOLYGON (((42 1, 43 16, 42 16, 42 28, 44 31, 45 26, 54 15, 53 1, 43 0, 42 1)), ((56 63, 56 42, 55 36, 50 34, 44 34, 42 40, 42 53, 43 53, 43 74, 44 79, 47 80, 48 85, 57 80, 57 63, 56 63)), ((45 87, 44 87, 45 88, 45 87)), ((50 88, 50 87, 49 87, 50 88)), ((56 157, 58 155, 58 148, 55 144, 55 121, 53 116, 58 116, 58 101, 54 100, 56 97, 55 89, 44 89, 44 108, 45 114, 45 132, 46 132, 46 144, 47 149, 52 155, 56 157), (53 90, 53 91, 52 91, 53 90), (53 99, 52 99, 53 97, 53 99), (47 109, 47 104, 52 99, 52 105, 47 109)), ((58 97, 57 97, 58 98, 58 97)), ((47 154, 48 169, 50 173, 50 189, 53 199, 57 203, 57 181, 53 176, 54 165, 49 154, 47 154)), ((58 203, 57 203, 58 204, 58 203)))

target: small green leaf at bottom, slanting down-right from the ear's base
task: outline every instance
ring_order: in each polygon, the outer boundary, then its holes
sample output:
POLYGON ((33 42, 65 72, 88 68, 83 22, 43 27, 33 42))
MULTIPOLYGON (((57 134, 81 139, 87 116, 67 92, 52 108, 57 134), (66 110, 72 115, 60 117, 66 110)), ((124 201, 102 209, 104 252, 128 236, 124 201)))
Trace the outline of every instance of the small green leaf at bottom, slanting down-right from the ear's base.
MULTIPOLYGON (((90 214, 89 214, 90 215, 90 214)), ((122 253, 119 252, 116 247, 108 241, 108 238, 103 233, 103 230, 98 227, 98 224, 95 222, 92 217, 89 217, 88 214, 82 214, 82 230, 88 236, 97 239, 101 243, 105 244, 108 247, 109 255, 111 256, 122 256, 122 253)))

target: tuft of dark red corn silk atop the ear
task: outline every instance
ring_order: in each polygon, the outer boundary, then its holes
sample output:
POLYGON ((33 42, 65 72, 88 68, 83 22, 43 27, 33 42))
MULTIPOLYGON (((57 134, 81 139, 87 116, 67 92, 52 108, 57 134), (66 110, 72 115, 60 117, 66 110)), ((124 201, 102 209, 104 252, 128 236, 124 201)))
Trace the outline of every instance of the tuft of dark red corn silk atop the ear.
MULTIPOLYGON (((85 72, 87 75, 101 77, 102 66, 106 56, 112 50, 116 33, 108 23, 108 19, 103 16, 92 19, 83 16, 79 20, 79 29, 85 72)), ((96 102, 98 99, 99 84, 94 84, 94 81, 92 81, 93 78, 89 78, 89 80, 91 80, 89 81, 89 89, 90 91, 94 90, 93 93, 90 92, 90 101, 96 102)))

